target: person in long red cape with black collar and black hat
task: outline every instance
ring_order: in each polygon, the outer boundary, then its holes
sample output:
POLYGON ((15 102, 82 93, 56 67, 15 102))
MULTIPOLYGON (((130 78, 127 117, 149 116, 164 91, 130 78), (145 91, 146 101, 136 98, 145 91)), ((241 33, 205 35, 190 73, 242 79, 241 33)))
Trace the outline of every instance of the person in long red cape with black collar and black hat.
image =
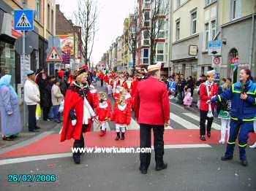
MULTIPOLYGON (((84 69, 77 71, 75 82, 67 90, 64 104, 64 121, 61 131, 61 142, 75 139, 73 148, 84 147, 83 133, 91 130, 91 119, 95 117, 92 109, 92 98, 84 69)), ((73 160, 80 163, 81 153, 73 153, 73 160)))

